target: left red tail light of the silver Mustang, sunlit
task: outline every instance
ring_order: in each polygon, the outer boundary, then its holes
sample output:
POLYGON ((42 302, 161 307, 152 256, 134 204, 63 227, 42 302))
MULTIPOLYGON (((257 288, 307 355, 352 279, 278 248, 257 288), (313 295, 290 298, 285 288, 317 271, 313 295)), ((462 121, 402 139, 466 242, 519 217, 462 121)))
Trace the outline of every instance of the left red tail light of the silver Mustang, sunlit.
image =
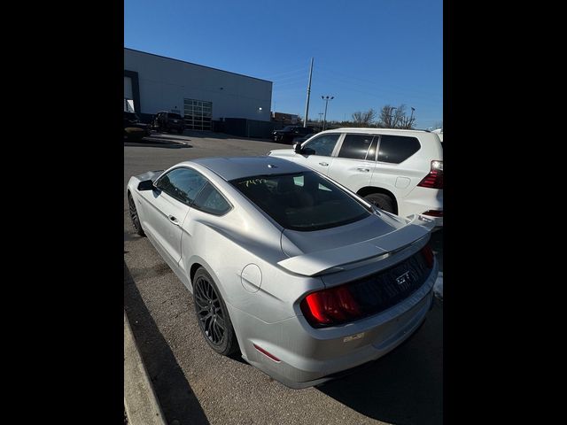
POLYGON ((312 292, 301 301, 300 307, 307 321, 315 328, 338 325, 361 315, 348 285, 312 292))

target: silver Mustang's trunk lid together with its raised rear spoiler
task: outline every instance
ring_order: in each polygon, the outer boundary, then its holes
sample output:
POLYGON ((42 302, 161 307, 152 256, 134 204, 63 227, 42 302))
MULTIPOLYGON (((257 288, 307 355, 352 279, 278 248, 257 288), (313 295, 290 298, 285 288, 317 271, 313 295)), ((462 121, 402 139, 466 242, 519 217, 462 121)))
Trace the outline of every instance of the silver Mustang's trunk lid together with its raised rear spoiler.
POLYGON ((283 259, 277 264, 295 274, 323 274, 349 263, 399 251, 426 236, 432 228, 430 223, 420 220, 417 215, 407 224, 401 219, 388 219, 381 220, 373 216, 353 223, 356 226, 348 225, 334 233, 332 230, 335 229, 332 228, 322 231, 322 235, 315 235, 318 232, 284 230, 283 251, 286 252, 286 244, 290 246, 289 243, 293 243, 303 253, 283 259), (369 222, 370 219, 376 221, 369 222), (301 233, 303 235, 298 235, 301 233), (284 237, 287 241, 284 241, 284 237))

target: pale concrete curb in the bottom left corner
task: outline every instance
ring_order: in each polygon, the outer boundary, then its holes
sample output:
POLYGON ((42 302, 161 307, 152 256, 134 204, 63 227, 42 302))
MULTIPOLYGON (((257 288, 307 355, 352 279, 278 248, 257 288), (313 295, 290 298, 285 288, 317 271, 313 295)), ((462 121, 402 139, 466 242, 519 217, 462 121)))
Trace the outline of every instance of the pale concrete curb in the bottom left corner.
POLYGON ((124 312, 124 408, 128 425, 167 425, 124 312))

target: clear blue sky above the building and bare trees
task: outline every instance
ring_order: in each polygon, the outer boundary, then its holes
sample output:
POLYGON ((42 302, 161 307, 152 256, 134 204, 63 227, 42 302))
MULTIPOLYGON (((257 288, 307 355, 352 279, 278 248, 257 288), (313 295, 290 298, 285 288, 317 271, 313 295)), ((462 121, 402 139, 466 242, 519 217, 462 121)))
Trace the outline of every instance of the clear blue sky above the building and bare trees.
POLYGON ((384 104, 443 120, 441 0, 125 0, 124 46, 273 81, 272 111, 327 120, 384 104))

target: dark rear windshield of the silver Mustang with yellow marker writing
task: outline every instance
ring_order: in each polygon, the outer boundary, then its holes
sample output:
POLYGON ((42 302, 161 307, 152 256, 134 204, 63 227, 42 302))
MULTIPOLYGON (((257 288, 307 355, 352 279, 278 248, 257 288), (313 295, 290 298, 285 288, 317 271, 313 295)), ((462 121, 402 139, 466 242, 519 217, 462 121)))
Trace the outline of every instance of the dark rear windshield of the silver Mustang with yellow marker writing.
POLYGON ((343 189, 306 171, 257 175, 231 183, 283 228, 336 228, 367 218, 369 210, 343 189))

